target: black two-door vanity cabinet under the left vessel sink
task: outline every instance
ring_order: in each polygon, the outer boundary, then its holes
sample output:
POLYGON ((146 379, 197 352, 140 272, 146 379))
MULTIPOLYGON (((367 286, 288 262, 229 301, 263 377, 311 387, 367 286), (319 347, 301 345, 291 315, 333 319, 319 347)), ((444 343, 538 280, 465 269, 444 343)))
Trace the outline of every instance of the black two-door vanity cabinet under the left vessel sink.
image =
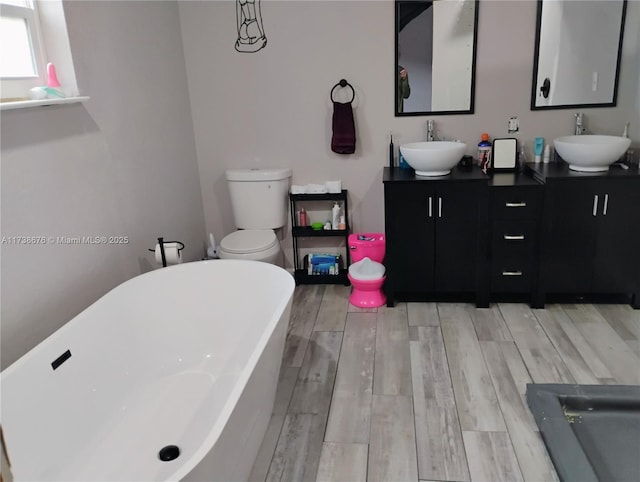
POLYGON ((488 304, 482 283, 487 228, 487 176, 454 169, 439 178, 412 170, 384 172, 387 304, 434 294, 475 294, 488 304))

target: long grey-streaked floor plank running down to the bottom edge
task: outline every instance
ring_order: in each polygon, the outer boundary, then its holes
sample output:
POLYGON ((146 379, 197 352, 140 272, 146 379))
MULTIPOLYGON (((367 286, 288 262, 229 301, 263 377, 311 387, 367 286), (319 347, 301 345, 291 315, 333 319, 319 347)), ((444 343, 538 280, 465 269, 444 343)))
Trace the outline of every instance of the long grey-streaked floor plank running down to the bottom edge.
POLYGON ((470 480, 440 328, 417 329, 410 348, 418 476, 470 480))

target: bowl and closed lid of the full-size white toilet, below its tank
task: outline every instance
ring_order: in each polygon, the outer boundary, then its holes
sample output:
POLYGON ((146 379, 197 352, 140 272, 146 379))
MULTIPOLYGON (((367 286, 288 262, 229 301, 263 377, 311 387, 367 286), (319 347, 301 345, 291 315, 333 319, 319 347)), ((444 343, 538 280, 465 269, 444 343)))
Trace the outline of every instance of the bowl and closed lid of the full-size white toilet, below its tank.
POLYGON ((250 259, 281 264, 280 242, 271 229, 243 229, 225 236, 218 247, 221 259, 250 259))

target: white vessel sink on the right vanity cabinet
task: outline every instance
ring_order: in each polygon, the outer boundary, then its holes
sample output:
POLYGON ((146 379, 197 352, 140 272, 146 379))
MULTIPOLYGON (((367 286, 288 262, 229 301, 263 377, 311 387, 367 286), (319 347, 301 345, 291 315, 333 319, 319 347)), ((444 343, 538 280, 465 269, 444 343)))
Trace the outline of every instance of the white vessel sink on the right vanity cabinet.
POLYGON ((629 149, 631 139, 617 136, 565 136, 553 141, 560 157, 574 171, 606 171, 629 149))

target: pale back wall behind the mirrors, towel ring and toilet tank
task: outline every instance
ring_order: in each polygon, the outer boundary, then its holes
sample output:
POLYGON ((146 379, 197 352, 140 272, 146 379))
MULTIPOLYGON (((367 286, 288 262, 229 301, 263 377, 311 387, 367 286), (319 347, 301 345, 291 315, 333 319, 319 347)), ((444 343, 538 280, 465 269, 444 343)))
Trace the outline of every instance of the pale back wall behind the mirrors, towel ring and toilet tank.
MULTIPOLYGON (((396 144, 423 140, 428 118, 393 114, 393 8, 391 0, 263 1, 268 44, 240 54, 234 2, 180 2, 207 230, 221 237, 234 229, 225 168, 270 165, 292 167, 296 184, 342 179, 353 228, 384 229, 389 132, 396 144), (329 147, 329 91, 343 77, 356 89, 350 156, 329 147)), ((434 117, 440 136, 461 139, 473 154, 482 132, 510 136, 507 122, 517 115, 531 154, 534 137, 573 132, 573 110, 530 110, 535 23, 534 1, 480 1, 475 114, 434 117)), ((620 134, 631 120, 636 142, 638 24, 640 2, 629 2, 618 106, 583 110, 600 133, 620 134)), ((282 246, 290 262, 288 236, 282 246)))

